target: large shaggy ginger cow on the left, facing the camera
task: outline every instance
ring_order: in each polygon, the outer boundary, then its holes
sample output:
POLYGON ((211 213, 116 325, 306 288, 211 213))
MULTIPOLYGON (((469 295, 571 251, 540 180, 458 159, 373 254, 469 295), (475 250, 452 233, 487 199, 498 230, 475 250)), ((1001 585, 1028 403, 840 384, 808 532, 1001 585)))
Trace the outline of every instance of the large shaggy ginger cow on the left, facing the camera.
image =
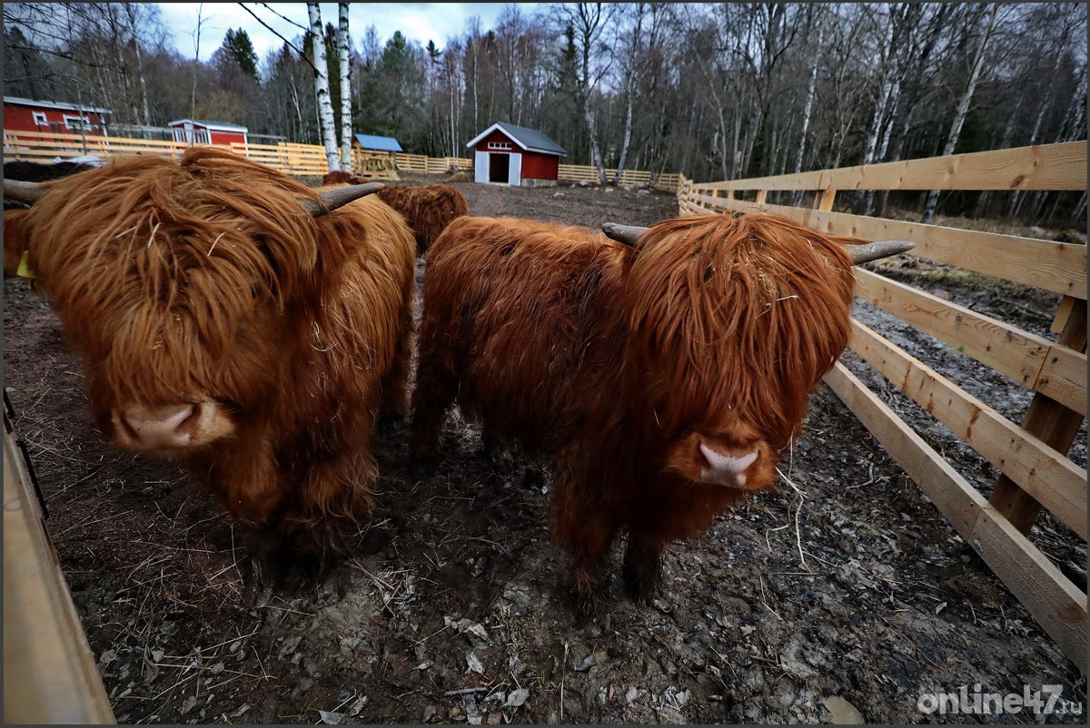
POLYGON ((295 557, 341 553, 370 510, 373 420, 403 413, 413 241, 352 202, 377 186, 319 195, 207 147, 4 183, 37 197, 5 243, 81 356, 99 429, 183 464, 246 526, 247 599, 295 557))

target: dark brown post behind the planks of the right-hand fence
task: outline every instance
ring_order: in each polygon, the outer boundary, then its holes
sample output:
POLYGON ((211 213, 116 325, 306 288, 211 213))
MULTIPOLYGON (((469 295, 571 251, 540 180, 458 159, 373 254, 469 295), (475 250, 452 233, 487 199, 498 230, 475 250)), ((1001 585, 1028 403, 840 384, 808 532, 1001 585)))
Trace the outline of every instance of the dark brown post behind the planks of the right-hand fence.
MULTIPOLYGON (((1056 343, 1076 351, 1087 350, 1087 302, 1074 296, 1064 296, 1057 310, 1057 317, 1065 317, 1064 328, 1056 343)), ((1067 453, 1082 425, 1082 415, 1069 410, 1051 397, 1041 392, 1033 395, 1033 400, 1026 410, 1022 429, 1039 437, 1052 449, 1067 453)), ((1006 475, 1001 475, 992 490, 991 502, 995 509, 1006 517, 1010 524, 1022 533, 1029 533, 1033 527, 1041 503, 1033 496, 1018 487, 1018 484, 1006 475)))

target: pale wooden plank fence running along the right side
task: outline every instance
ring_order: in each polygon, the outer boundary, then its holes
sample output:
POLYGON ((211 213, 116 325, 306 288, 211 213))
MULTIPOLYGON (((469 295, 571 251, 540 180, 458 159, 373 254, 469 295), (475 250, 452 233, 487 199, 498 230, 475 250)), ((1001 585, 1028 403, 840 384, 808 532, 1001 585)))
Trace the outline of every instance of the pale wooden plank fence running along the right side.
POLYGON ((909 240, 916 243, 910 255, 1062 296, 1053 342, 855 269, 857 296, 1033 391, 1019 426, 852 320, 851 349, 1002 473, 991 500, 843 363, 825 383, 1080 668, 1087 657, 1087 595, 1024 534, 1043 507, 1087 537, 1087 471, 1066 457, 1087 412, 1086 245, 834 213, 833 202, 840 190, 1086 186, 1083 141, 705 184, 682 179, 678 187, 682 215, 763 210, 833 234, 909 240), (812 191, 814 208, 765 204, 772 190, 812 191), (736 198, 747 191, 755 193, 753 202, 736 198))

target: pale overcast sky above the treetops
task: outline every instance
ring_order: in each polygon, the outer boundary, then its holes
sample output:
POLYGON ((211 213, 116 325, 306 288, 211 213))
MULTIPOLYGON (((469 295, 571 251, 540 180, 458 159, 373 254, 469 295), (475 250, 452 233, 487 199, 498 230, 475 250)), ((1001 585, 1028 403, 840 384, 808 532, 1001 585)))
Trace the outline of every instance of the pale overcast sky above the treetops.
MULTIPOLYGON (((495 27, 496 19, 502 12, 505 4, 518 4, 520 10, 529 15, 536 2, 501 3, 501 2, 353 2, 349 5, 349 32, 355 49, 367 32, 367 26, 374 25, 378 33, 379 44, 385 45, 395 31, 410 40, 419 40, 426 46, 434 40, 440 49, 446 48, 448 37, 457 37, 465 29, 465 23, 476 15, 481 19, 481 28, 487 31, 495 27)), ((294 41, 303 31, 291 22, 277 16, 277 13, 306 27, 310 21, 306 15, 305 2, 247 2, 246 8, 276 29, 284 38, 294 41), (267 4, 269 8, 266 8, 267 4), (275 11, 275 12, 274 12, 275 11)), ((159 12, 164 24, 173 35, 174 47, 183 58, 193 58, 195 51, 194 36, 197 27, 196 2, 162 2, 159 12)), ((337 3, 319 3, 322 23, 337 25, 337 3)), ((279 49, 282 40, 254 20, 254 16, 239 7, 237 2, 205 2, 201 10, 201 60, 207 61, 223 43, 223 36, 229 28, 243 28, 254 44, 258 61, 264 61, 268 51, 279 49)))

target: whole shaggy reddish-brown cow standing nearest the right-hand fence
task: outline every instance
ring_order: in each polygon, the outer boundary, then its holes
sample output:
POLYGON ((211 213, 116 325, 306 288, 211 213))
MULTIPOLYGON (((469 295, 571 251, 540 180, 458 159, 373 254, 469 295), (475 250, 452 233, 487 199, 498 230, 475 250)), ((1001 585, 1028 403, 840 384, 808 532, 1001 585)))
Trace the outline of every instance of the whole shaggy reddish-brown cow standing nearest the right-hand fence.
POLYGON ((810 390, 848 342, 841 243, 862 242, 768 215, 667 220, 634 246, 459 218, 426 256, 417 454, 434 454, 457 399, 487 438, 550 460, 552 533, 579 610, 620 531, 625 582, 645 599, 667 543, 773 484, 810 390))

